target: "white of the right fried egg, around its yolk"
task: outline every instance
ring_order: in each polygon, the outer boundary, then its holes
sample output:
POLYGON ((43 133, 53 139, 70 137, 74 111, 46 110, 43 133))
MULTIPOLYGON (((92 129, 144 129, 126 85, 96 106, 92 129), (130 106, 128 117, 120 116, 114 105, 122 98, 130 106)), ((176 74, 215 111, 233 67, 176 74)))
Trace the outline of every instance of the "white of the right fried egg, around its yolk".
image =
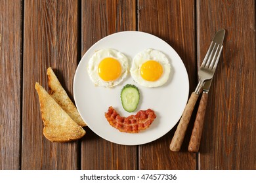
POLYGON ((137 84, 139 84, 140 86, 154 88, 162 86, 163 84, 165 84, 165 82, 167 82, 169 74, 171 73, 171 65, 169 64, 169 60, 167 59, 165 54, 158 50, 148 48, 146 50, 143 50, 142 52, 139 52, 133 58, 130 73, 131 76, 133 77, 133 80, 135 80, 135 82, 137 82, 137 84), (158 61, 158 63, 160 63, 162 66, 163 73, 161 77, 156 81, 144 80, 144 78, 142 78, 142 76, 140 75, 140 68, 142 64, 148 60, 158 61))

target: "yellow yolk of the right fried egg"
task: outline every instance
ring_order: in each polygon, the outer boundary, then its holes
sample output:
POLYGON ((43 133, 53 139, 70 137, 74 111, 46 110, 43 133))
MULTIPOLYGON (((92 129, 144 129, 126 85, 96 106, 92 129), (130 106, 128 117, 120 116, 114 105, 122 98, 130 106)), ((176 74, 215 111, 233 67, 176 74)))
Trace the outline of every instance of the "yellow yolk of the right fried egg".
POLYGON ((140 67, 140 75, 144 80, 156 81, 163 74, 163 67, 158 61, 149 60, 144 62, 140 67))

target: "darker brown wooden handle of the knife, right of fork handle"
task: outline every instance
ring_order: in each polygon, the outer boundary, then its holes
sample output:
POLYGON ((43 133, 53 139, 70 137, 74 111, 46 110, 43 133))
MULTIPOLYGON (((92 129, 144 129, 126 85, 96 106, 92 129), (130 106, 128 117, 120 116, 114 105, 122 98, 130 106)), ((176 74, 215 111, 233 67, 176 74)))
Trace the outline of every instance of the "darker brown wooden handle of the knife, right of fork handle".
POLYGON ((192 135, 190 137, 190 142, 188 145, 189 152, 198 152, 199 150, 202 131, 203 131, 205 109, 207 106, 207 99, 208 99, 208 94, 203 92, 203 95, 201 97, 200 104, 198 107, 198 113, 196 114, 196 120, 192 130, 192 135))

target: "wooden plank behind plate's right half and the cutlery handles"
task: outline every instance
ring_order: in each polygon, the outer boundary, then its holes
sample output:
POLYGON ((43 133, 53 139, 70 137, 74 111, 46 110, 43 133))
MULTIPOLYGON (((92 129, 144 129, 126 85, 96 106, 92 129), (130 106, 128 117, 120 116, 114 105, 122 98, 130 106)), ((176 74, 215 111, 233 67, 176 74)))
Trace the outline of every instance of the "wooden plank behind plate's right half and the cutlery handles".
MULTIPOLYGON (((160 37, 177 51, 187 69, 191 93, 197 81, 194 1, 140 0, 138 8, 139 31, 160 37)), ((196 154, 187 150, 191 126, 188 127, 181 152, 169 150, 175 129, 157 141, 140 146, 139 169, 196 169, 196 154)))

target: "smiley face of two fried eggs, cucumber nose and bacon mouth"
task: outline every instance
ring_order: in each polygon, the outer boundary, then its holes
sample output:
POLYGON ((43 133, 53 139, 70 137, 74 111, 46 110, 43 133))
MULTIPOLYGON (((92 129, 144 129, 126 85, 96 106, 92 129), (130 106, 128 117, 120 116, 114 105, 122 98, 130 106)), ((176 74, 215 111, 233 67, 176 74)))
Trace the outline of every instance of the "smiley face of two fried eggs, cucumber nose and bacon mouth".
MULTIPOLYGON (((113 49, 98 50, 89 59, 87 71, 95 86, 112 88, 127 76, 128 59, 113 49)), ((131 76, 137 84, 147 88, 162 86, 167 82, 171 66, 166 56, 158 50, 146 49, 139 52, 132 62, 131 76)), ((127 84, 121 90, 121 103, 127 112, 134 112, 139 103, 139 90, 133 84, 127 84)), ((154 110, 139 110, 137 114, 122 117, 113 108, 109 107, 105 112, 105 118, 112 127, 121 132, 139 133, 147 129, 156 114, 154 110)))

